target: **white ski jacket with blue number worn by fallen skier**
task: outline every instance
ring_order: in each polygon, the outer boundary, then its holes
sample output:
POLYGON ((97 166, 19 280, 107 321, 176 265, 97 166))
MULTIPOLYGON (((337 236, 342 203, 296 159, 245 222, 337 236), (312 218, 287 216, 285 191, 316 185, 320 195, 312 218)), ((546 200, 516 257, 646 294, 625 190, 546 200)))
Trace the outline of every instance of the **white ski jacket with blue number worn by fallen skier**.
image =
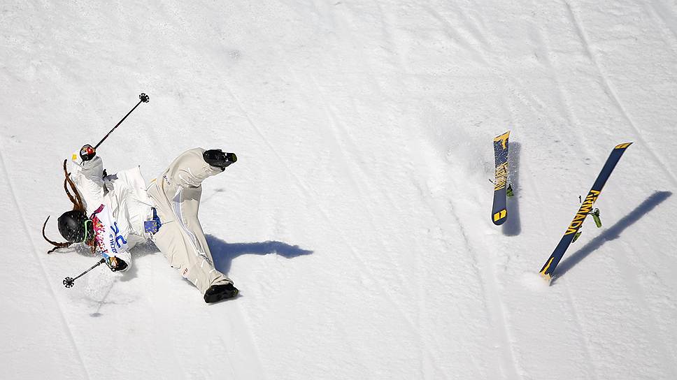
POLYGON ((131 267, 129 249, 145 242, 143 222, 152 219, 152 200, 137 166, 104 177, 104 163, 99 156, 82 164, 70 163, 71 180, 76 184, 87 209, 95 214, 99 252, 104 258, 116 256, 131 267))

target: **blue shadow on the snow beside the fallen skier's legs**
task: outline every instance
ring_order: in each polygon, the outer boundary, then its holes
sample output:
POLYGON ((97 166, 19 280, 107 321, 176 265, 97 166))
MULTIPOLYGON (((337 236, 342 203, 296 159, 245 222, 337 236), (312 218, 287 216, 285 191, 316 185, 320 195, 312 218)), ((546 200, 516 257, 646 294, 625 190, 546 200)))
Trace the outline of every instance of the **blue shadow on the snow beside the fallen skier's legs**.
POLYGON ((290 245, 283 242, 267 241, 252 243, 227 243, 213 235, 205 235, 212 257, 214 258, 215 268, 226 275, 230 271, 230 266, 234 258, 245 254, 267 255, 278 254, 285 258, 294 258, 312 254, 313 251, 301 249, 297 245, 290 245))

